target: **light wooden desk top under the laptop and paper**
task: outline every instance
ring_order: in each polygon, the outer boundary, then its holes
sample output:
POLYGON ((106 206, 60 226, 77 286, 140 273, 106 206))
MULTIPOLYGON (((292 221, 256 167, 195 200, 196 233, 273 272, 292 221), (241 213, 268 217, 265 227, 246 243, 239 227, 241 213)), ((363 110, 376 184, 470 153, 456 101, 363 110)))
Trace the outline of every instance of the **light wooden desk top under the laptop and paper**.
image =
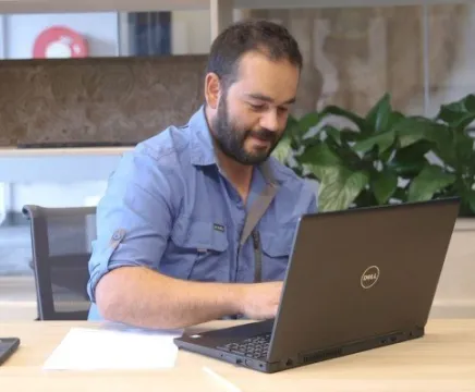
MULTIPOLYGON (((218 321, 194 330, 228 326, 218 321)), ((71 327, 87 322, 0 322, 22 346, 0 367, 1 391, 475 391, 475 319, 430 320, 423 339, 273 375, 180 352, 172 369, 45 371, 42 364, 71 327)), ((94 355, 94 354, 92 354, 94 355)))

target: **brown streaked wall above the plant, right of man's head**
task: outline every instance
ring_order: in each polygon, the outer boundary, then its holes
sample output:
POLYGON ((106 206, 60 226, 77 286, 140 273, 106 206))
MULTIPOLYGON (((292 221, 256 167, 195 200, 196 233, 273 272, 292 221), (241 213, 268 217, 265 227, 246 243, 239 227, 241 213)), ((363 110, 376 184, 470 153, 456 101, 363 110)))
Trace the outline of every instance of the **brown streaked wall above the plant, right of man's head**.
POLYGON ((297 38, 305 59, 302 112, 339 105, 364 115, 390 93, 397 109, 433 115, 440 105, 475 89, 474 5, 270 9, 252 14, 284 24, 297 38))

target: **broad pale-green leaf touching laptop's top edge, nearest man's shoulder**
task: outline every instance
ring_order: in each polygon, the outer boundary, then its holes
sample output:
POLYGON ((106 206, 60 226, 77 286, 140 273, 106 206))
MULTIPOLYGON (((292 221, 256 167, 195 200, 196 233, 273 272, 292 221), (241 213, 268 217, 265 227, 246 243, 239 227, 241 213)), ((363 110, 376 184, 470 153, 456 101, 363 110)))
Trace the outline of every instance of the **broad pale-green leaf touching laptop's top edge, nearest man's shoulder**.
POLYGON ((368 182, 369 174, 364 171, 352 172, 341 166, 327 168, 318 189, 319 209, 334 211, 349 208, 368 182))

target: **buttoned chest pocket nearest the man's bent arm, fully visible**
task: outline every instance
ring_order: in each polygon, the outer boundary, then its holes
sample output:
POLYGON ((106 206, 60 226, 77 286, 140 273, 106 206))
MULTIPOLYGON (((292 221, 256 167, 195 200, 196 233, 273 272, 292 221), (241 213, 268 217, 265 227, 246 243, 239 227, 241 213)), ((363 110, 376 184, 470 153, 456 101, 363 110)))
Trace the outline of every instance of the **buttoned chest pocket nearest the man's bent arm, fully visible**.
POLYGON ((226 226, 182 217, 173 226, 161 270, 180 279, 229 281, 230 256, 226 226))

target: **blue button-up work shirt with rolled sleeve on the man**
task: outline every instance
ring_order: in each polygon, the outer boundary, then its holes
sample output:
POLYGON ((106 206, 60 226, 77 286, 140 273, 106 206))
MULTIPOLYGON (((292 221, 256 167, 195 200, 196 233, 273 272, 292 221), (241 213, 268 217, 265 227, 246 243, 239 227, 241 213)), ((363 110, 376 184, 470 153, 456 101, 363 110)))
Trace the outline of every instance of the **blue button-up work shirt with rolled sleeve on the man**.
MULTIPOLYGON (((279 188, 257 224, 263 281, 283 280, 297 219, 317 209, 314 186, 275 158, 268 162, 279 188)), ((265 185, 255 169, 246 205, 265 185)), ((217 164, 203 107, 185 126, 138 144, 122 157, 97 206, 89 320, 102 319, 97 282, 122 266, 184 280, 253 282, 253 238, 238 252, 245 217, 246 206, 217 164)))

